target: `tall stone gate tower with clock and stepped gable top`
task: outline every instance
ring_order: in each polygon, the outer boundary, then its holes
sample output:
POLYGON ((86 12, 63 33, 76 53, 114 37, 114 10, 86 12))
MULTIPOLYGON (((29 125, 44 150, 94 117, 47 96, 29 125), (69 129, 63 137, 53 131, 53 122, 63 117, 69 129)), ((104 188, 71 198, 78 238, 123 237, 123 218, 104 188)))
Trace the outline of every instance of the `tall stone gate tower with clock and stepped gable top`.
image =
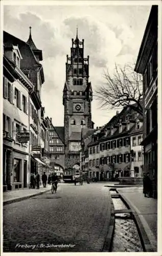
POLYGON ((93 128, 92 89, 89 56, 84 58, 84 39, 72 39, 71 56, 66 55, 66 81, 63 89, 65 168, 80 166, 81 130, 93 128))

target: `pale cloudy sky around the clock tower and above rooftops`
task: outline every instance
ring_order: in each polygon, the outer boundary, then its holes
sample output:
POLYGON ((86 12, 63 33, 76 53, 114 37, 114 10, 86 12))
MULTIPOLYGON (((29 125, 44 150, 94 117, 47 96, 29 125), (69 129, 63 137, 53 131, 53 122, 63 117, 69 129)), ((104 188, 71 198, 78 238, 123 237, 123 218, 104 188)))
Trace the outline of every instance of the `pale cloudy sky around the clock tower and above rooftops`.
MULTIPOLYGON (((66 54, 70 55, 77 26, 79 39, 84 38, 84 57, 89 55, 89 81, 95 94, 106 82, 107 68, 113 73, 115 63, 135 62, 150 10, 151 5, 4 6, 4 30, 27 41, 31 26, 33 41, 42 50, 45 82, 41 101, 55 126, 63 126, 66 54)), ((96 127, 107 123, 117 110, 101 110, 94 98, 91 111, 96 127)))

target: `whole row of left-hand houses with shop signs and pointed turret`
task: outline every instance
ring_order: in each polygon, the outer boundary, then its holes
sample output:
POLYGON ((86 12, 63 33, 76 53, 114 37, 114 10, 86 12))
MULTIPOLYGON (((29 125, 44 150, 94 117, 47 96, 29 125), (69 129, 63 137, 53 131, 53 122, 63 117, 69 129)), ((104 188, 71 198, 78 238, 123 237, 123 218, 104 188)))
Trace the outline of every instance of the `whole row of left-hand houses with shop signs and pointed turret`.
POLYGON ((38 165, 45 166, 40 160, 41 147, 36 151, 36 146, 41 145, 42 53, 30 45, 31 31, 29 39, 25 42, 4 31, 4 190, 29 187, 31 173, 39 172, 38 165))

